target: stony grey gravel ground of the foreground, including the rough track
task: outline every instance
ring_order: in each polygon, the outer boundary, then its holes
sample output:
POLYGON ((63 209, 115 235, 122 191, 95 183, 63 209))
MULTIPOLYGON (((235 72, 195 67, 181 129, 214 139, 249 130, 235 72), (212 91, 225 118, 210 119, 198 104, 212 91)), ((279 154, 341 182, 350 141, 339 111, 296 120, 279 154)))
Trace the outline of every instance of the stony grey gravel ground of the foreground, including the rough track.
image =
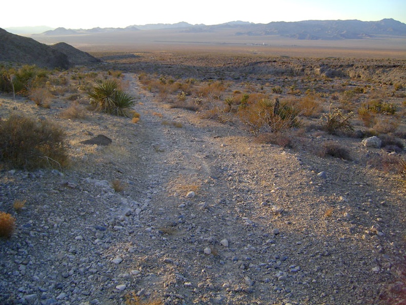
POLYGON ((63 126, 72 156, 62 171, 0 171, 0 210, 16 218, 0 240, 0 303, 123 304, 132 292, 165 304, 404 298, 405 187, 365 162, 385 151, 346 139, 354 161, 343 161, 259 144, 126 78, 138 124, 93 112, 66 120, 66 102, 0 97, 3 118, 63 126), (80 143, 99 134, 112 144, 80 143), (27 200, 19 213, 15 200, 27 200))

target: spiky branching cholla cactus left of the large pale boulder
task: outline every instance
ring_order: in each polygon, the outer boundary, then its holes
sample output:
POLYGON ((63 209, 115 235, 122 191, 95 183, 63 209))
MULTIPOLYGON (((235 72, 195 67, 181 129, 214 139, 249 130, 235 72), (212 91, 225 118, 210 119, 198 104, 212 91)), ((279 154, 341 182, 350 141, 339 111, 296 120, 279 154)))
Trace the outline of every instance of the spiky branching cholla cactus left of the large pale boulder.
POLYGON ((333 109, 330 104, 329 112, 320 118, 319 124, 323 130, 332 135, 337 134, 338 131, 353 131, 354 127, 350 122, 352 116, 353 112, 343 113, 342 109, 333 109))

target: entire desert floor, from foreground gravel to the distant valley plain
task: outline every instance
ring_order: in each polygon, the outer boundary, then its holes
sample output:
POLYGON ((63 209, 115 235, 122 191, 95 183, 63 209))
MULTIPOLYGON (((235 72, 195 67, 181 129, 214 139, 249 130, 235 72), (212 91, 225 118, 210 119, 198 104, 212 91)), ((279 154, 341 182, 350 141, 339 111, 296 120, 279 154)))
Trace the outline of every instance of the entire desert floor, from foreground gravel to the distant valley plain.
POLYGON ((53 71, 46 103, 0 96, 2 120, 65 130, 70 158, 0 169, 3 304, 406 302, 404 41, 75 39, 103 63, 53 71), (129 117, 89 107, 108 78, 129 117))

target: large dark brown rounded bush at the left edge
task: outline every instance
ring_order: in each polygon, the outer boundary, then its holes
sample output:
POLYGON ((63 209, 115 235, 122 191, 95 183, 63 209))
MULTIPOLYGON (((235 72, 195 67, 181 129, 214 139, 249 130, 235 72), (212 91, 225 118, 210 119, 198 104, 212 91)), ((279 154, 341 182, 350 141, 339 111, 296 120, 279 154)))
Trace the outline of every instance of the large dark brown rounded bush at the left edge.
POLYGON ((66 166, 65 132, 46 120, 12 115, 0 121, 0 161, 26 169, 66 166))

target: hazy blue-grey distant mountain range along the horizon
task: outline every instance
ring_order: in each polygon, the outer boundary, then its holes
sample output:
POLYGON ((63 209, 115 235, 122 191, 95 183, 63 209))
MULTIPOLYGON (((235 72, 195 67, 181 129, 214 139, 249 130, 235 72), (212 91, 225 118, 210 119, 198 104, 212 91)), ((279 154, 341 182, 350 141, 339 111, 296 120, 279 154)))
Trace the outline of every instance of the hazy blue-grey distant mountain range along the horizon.
POLYGON ((299 40, 343 40, 364 39, 379 35, 406 36, 406 24, 392 18, 380 21, 359 20, 327 20, 327 21, 299 21, 299 22, 271 22, 268 24, 254 24, 250 22, 233 21, 219 25, 192 25, 186 22, 176 24, 148 24, 131 25, 126 28, 93 28, 93 29, 65 29, 49 30, 41 35, 81 35, 106 33, 116 31, 140 30, 177 30, 184 32, 212 32, 221 29, 235 29, 234 35, 267 36, 280 35, 299 40))

